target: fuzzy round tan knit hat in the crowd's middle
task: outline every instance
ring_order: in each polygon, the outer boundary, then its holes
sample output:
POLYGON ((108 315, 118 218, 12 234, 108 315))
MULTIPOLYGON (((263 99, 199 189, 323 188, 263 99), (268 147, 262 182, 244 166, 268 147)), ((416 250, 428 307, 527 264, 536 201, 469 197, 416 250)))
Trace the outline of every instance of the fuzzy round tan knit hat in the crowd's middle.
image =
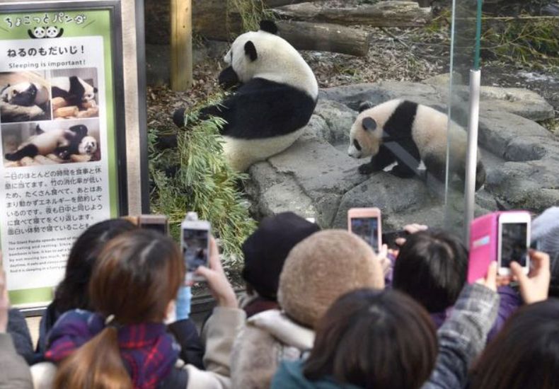
POLYGON ((359 288, 384 288, 374 251, 355 234, 321 231, 289 252, 278 300, 289 318, 314 328, 338 297, 359 288))

